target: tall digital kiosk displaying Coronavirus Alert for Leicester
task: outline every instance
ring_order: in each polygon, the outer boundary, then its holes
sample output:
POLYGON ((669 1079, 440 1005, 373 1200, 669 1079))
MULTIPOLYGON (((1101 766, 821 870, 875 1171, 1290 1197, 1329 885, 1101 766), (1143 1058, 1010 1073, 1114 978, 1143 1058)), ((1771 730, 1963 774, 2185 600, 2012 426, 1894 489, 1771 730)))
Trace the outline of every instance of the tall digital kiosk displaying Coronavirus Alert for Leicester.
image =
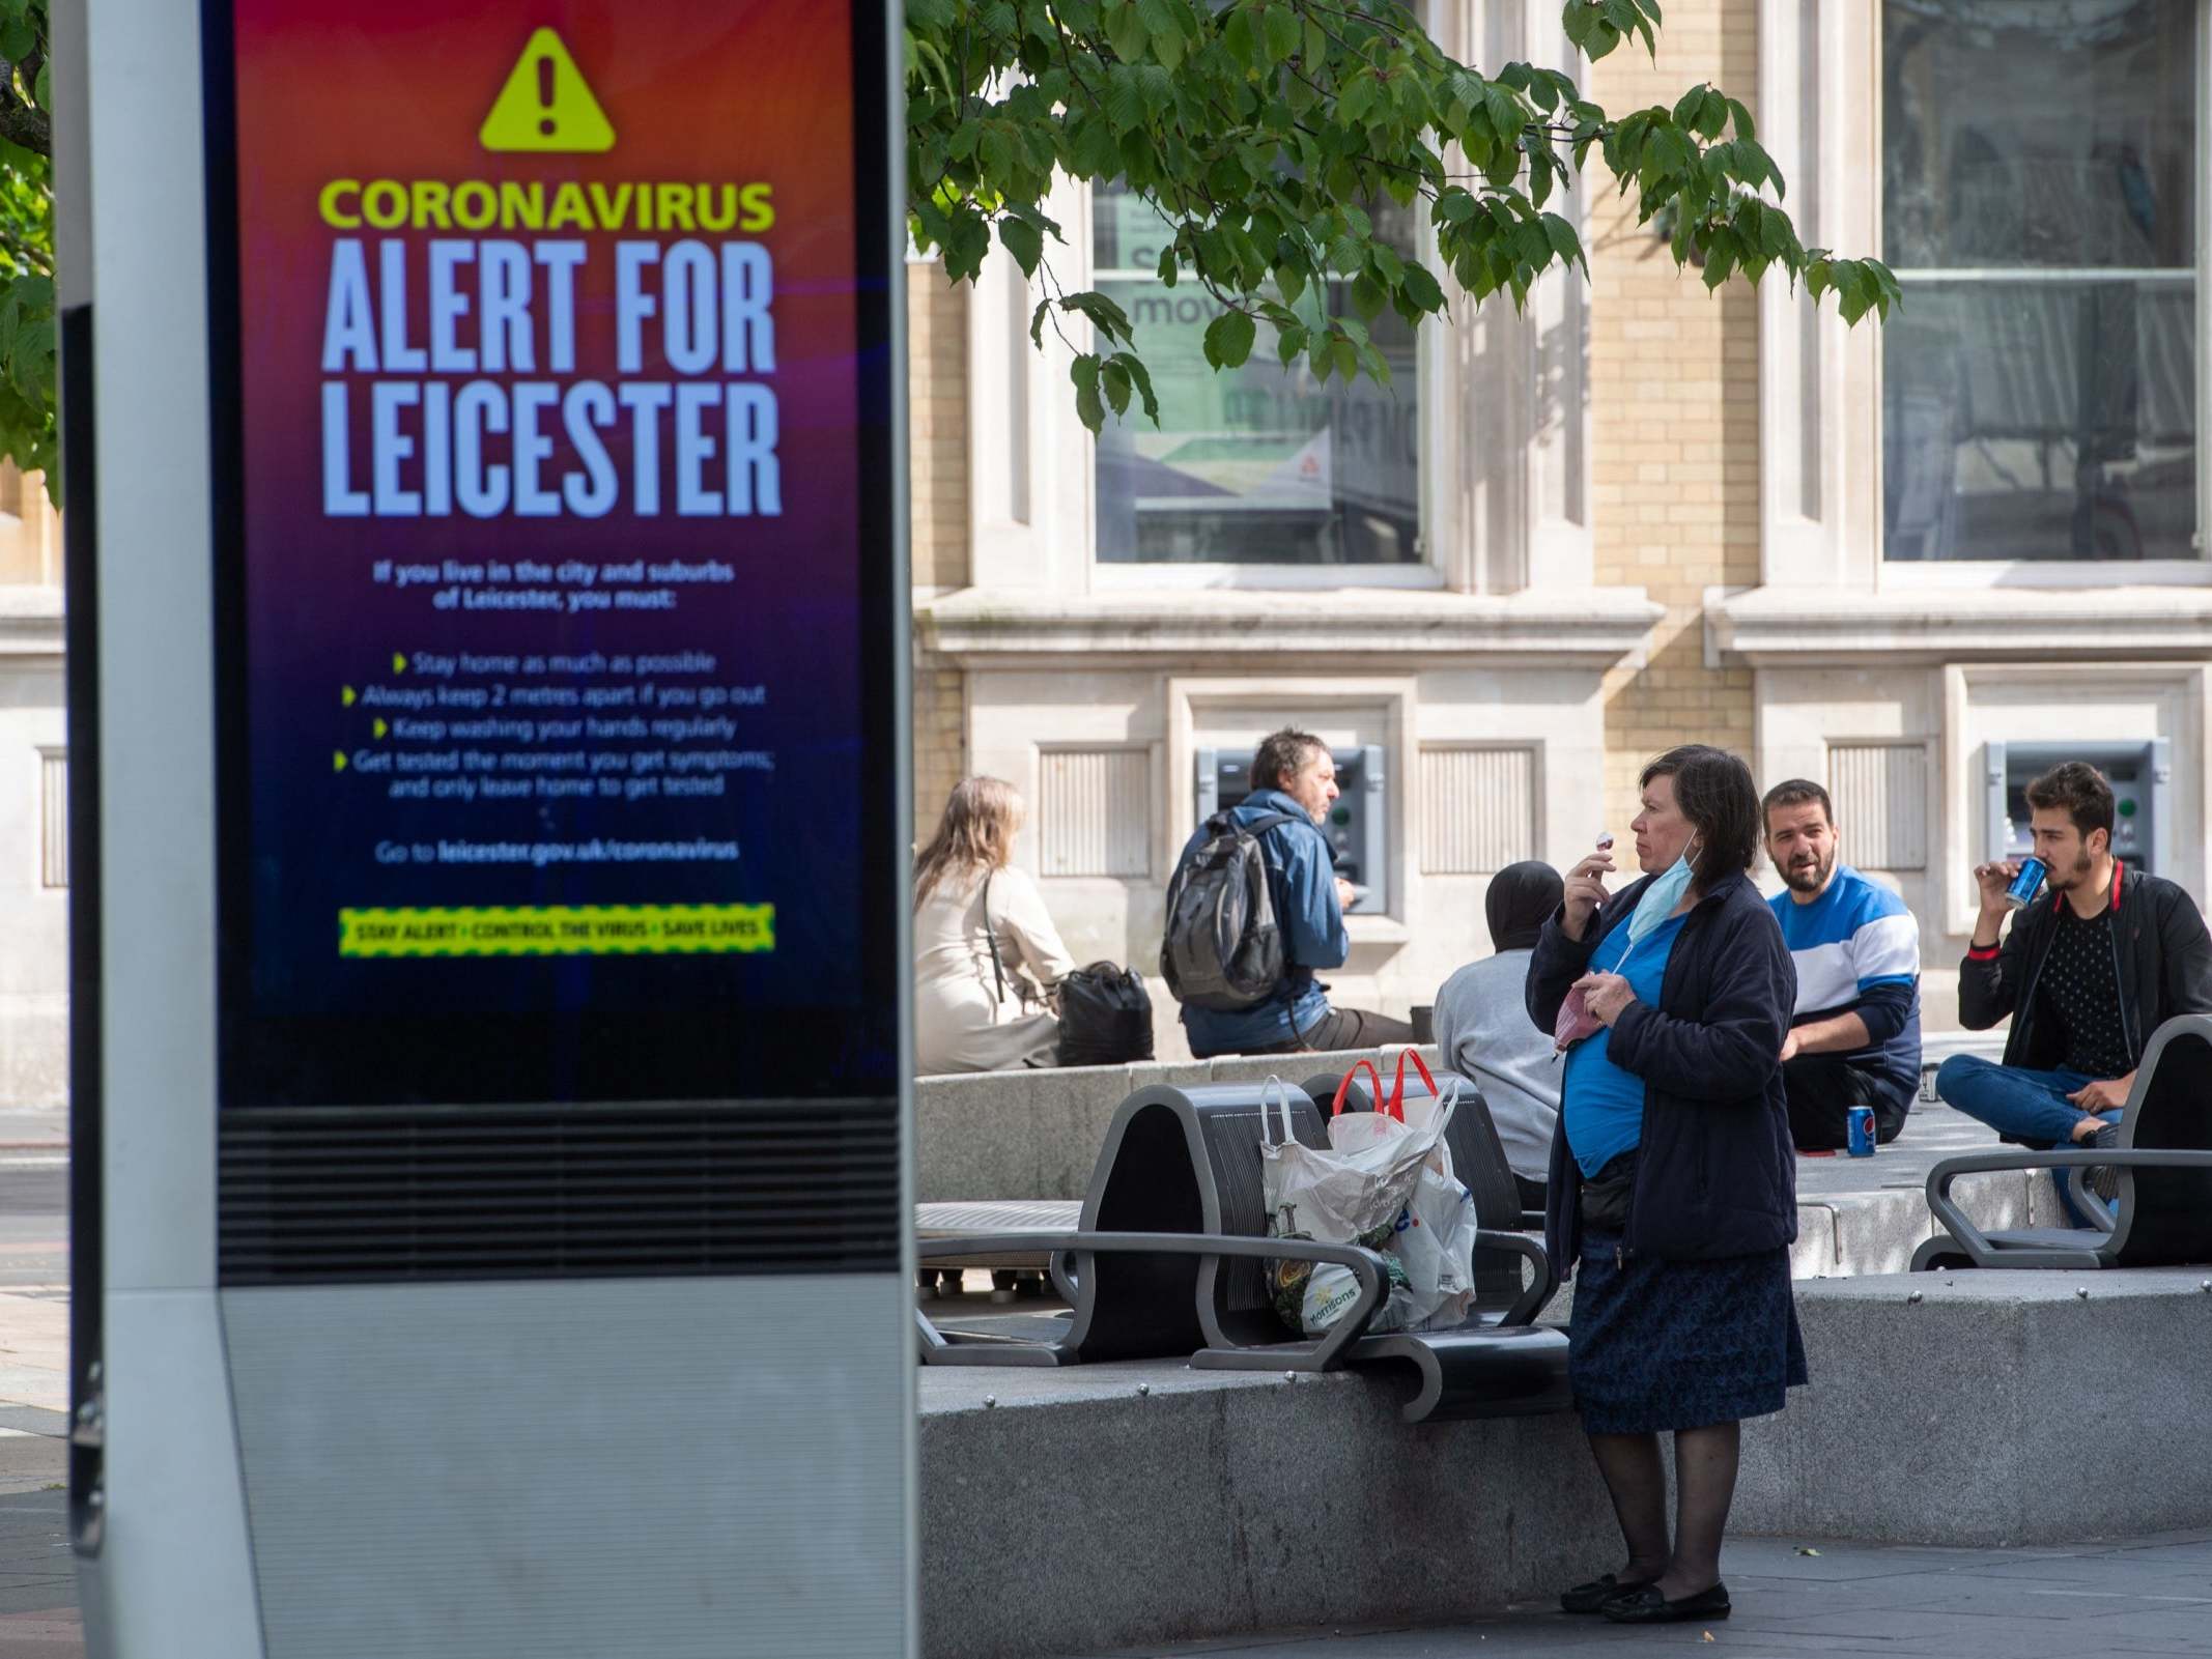
POLYGON ((896 42, 55 7, 97 1659, 916 1650, 896 42))

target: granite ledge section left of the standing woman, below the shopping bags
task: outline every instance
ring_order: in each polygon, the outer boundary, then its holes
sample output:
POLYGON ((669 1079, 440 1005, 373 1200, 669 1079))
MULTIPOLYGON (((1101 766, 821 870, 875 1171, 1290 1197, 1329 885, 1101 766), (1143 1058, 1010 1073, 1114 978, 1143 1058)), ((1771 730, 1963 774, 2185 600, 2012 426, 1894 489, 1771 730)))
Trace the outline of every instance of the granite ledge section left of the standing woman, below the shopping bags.
POLYGON ((922 1652, 1447 1619, 1619 1564, 1575 1418, 1409 1429, 1402 1394, 1347 1371, 925 1367, 922 1652))

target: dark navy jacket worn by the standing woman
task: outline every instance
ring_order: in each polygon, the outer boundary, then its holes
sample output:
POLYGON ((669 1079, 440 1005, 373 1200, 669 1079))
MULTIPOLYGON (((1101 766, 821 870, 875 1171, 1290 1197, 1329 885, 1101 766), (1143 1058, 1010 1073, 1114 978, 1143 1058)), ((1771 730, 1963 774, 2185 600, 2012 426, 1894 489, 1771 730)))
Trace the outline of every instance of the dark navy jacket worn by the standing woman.
MULTIPOLYGON (((1597 942, 1628 925, 1646 880, 1606 900, 1579 942, 1559 916, 1544 925, 1528 962, 1528 1018, 1537 1026, 1557 1024, 1568 987, 1588 971, 1597 942)), ((1630 1002, 1613 1026, 1613 1064, 1646 1084, 1624 1250, 1712 1261, 1796 1239, 1796 1148, 1781 1068, 1794 1006, 1796 969, 1783 929, 1750 876, 1732 876, 1683 918, 1659 1006, 1630 1002)), ((1544 1210, 1544 1248, 1562 1274, 1582 1259, 1579 1190, 1562 1110, 1544 1210)))

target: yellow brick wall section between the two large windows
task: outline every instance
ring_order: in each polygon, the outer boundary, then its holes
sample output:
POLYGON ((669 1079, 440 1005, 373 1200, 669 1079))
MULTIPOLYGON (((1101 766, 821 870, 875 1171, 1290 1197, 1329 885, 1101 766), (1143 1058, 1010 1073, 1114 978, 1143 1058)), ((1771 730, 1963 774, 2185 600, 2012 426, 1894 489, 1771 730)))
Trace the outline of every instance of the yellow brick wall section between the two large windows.
MULTIPOLYGON (((1756 0, 1670 0, 1657 64, 1621 46, 1588 75, 1615 115, 1699 82, 1756 113, 1756 0)), ((1635 192, 1615 197, 1601 170, 1588 188, 1597 580, 1666 606, 1650 666, 1606 681, 1606 799, 1626 805, 1674 743, 1750 759, 1752 672, 1705 668, 1703 595, 1759 580, 1759 301, 1741 279, 1708 294, 1637 226, 1635 192)))

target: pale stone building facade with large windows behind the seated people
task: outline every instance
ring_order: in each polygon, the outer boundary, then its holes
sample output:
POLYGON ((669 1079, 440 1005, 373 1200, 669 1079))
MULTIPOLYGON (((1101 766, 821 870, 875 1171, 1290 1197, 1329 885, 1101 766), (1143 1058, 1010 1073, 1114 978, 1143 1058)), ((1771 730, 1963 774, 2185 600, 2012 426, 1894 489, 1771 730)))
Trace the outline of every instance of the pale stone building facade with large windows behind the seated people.
MULTIPOLYGON (((1075 956, 1150 967, 1201 759, 1312 726, 1380 759, 1385 876, 1327 978, 1391 1011, 1486 949, 1493 869, 1626 832, 1639 765, 1688 739, 1836 790, 1845 856, 1920 916, 1931 1026, 1969 869, 2048 745, 2108 763, 2124 849, 2201 894, 2205 9, 1674 0, 1657 62, 1586 84, 1747 102, 1807 246, 1882 257, 1905 312, 1708 294, 1593 179, 1588 283, 1402 347, 1371 398, 1398 456, 1360 447, 1358 398, 1270 429, 1283 400, 1241 389, 1093 442, 1018 274, 911 265, 918 832, 960 774, 1015 781, 1075 956)), ((1566 64, 1557 15, 1431 27, 1478 66, 1566 64)), ((1152 301, 1157 374, 1190 319, 1119 252, 1144 226, 1082 190, 1057 217, 1091 228, 1064 285, 1119 292, 1139 338, 1152 301)))

